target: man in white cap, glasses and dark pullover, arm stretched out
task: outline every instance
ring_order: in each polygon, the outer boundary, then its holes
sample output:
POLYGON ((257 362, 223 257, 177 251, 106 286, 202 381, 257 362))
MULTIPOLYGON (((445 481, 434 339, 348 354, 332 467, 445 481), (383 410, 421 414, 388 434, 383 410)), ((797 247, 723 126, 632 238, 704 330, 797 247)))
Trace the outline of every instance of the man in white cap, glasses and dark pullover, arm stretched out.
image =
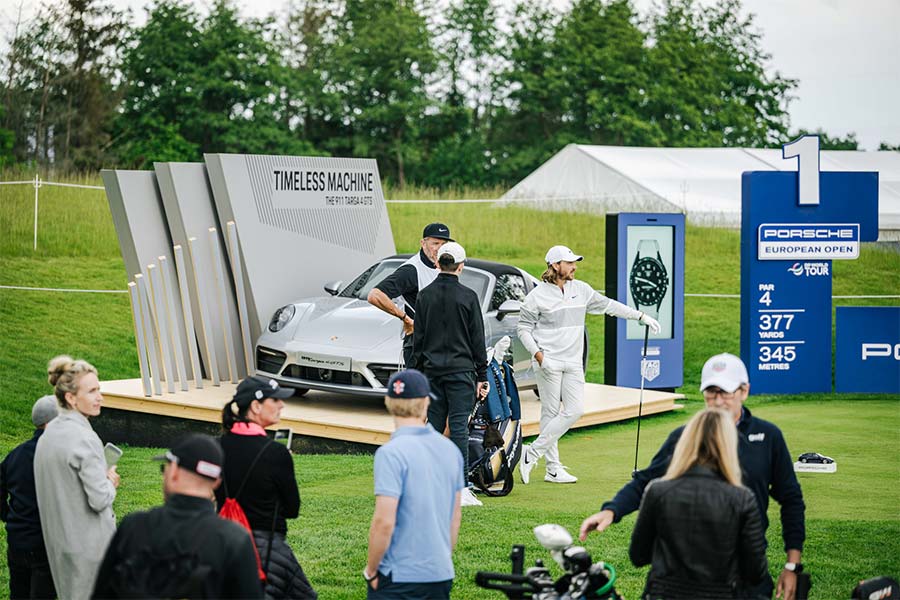
MULTIPOLYGON (((703 365, 700 379, 700 390, 706 405, 725 409, 734 416, 743 482, 756 496, 763 529, 769 527, 769 496, 781 505, 781 529, 787 561, 778 576, 776 591, 779 598, 793 600, 797 574, 803 570, 800 559, 806 538, 806 505, 784 436, 774 424, 754 417, 743 406, 750 393, 750 378, 740 358, 733 354, 713 356, 703 365)), ((581 524, 582 540, 591 531, 603 531, 638 509, 647 484, 662 477, 669 468, 683 429, 679 427, 669 434, 650 465, 635 473, 612 500, 603 504, 600 512, 584 520, 581 524)), ((748 591, 748 597, 771 598, 773 587, 771 578, 767 577, 760 586, 748 591)))

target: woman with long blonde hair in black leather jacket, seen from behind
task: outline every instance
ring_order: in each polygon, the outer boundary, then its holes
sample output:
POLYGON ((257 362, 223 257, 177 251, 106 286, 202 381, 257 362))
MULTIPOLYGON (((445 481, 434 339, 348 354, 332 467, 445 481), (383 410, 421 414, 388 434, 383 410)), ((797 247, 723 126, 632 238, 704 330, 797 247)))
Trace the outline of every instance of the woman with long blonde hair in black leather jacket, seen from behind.
POLYGON ((651 565, 646 600, 738 598, 765 577, 759 508, 741 485, 727 413, 706 409, 688 422, 668 471, 644 492, 628 553, 651 565))

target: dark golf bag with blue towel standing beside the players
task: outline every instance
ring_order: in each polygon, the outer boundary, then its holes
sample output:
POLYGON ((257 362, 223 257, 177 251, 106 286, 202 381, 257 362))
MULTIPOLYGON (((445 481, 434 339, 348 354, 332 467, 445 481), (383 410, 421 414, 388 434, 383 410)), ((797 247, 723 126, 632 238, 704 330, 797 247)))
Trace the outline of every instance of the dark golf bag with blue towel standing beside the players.
POLYGON ((519 391, 509 363, 488 363, 487 398, 478 400, 469 418, 469 481, 488 496, 512 491, 522 455, 519 391))

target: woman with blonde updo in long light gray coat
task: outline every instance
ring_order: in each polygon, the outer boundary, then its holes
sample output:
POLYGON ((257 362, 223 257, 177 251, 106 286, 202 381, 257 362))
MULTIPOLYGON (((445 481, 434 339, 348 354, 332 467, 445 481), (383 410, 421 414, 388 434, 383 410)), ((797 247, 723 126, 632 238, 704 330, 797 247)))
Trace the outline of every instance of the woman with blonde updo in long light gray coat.
POLYGON ((103 553, 116 530, 112 504, 119 486, 88 419, 100 414, 97 369, 57 356, 47 367, 62 410, 47 425, 34 455, 41 529, 60 598, 89 598, 103 553))

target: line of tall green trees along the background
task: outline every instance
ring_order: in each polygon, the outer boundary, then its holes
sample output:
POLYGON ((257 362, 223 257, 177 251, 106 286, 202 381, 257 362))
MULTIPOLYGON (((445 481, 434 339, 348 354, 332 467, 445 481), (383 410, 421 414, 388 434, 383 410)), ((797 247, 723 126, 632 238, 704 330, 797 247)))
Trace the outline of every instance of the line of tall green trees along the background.
POLYGON ((360 156, 397 185, 502 185, 573 142, 776 146, 797 85, 767 72, 739 0, 663 0, 645 17, 629 0, 146 11, 137 24, 111 2, 56 0, 8 25, 0 164, 360 156))

